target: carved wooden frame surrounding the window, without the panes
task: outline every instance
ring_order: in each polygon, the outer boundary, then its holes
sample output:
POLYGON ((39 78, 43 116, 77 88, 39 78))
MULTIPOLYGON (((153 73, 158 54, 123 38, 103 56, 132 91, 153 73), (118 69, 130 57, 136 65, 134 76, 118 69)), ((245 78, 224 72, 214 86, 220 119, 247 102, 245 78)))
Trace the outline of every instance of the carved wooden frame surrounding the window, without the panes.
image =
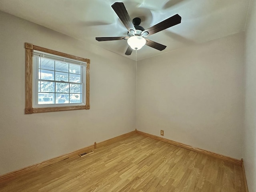
POLYGON ((77 57, 74 55, 50 50, 47 48, 39 47, 30 43, 25 43, 26 49, 26 108, 25 114, 32 113, 42 113, 42 112, 54 112, 54 111, 68 111, 68 110, 80 110, 80 109, 90 109, 90 59, 77 57), (32 95, 33 95, 33 50, 38 50, 70 59, 75 59, 78 61, 86 62, 86 98, 85 105, 80 106, 60 106, 60 107, 42 107, 33 108, 32 95))

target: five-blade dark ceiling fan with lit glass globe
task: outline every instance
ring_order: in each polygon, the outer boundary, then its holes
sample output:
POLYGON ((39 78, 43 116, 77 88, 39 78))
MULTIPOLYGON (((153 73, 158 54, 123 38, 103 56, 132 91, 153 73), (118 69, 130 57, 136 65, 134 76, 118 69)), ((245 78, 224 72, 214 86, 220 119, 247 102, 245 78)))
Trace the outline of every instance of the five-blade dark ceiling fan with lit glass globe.
POLYGON ((136 17, 133 20, 131 20, 122 2, 115 2, 114 4, 112 4, 111 7, 114 9, 114 11, 118 15, 122 23, 128 30, 128 36, 96 37, 96 40, 97 41, 127 40, 129 47, 125 52, 126 55, 132 54, 132 50, 139 50, 145 44, 147 46, 150 46, 160 51, 164 50, 166 48, 165 45, 146 39, 146 37, 181 23, 181 16, 176 14, 145 30, 142 26, 139 26, 141 21, 140 18, 136 17))

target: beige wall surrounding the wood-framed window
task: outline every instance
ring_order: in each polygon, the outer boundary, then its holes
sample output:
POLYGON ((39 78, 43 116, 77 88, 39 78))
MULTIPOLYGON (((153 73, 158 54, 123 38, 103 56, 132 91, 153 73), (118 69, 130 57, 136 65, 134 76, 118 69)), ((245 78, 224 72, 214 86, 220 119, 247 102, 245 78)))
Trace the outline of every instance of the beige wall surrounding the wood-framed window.
POLYGON ((0 175, 135 130, 128 58, 0 12, 0 66, 0 175), (24 114, 24 42, 91 59, 90 110, 24 114))

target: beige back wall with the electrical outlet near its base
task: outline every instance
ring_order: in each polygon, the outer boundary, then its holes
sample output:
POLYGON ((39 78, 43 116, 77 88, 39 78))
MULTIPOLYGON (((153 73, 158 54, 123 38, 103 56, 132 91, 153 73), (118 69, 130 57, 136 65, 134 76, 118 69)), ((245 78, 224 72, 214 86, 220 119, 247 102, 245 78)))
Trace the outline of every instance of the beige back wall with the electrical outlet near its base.
POLYGON ((244 33, 138 62, 136 128, 240 159, 244 33))

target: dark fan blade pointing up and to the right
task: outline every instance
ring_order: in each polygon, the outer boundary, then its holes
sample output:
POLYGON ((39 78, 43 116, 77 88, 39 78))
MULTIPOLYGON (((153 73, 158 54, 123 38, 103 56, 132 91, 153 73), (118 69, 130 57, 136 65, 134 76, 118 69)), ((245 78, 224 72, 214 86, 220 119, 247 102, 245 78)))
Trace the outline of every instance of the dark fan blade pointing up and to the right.
POLYGON ((160 32, 162 30, 165 30, 169 27, 172 27, 172 26, 180 24, 180 23, 181 23, 181 16, 176 14, 176 15, 174 15, 174 16, 172 16, 172 17, 170 17, 170 18, 168 18, 168 19, 166 19, 166 20, 164 20, 164 21, 162 21, 162 22, 144 30, 142 32, 142 34, 144 32, 148 32, 149 33, 148 35, 152 35, 154 33, 160 32))

